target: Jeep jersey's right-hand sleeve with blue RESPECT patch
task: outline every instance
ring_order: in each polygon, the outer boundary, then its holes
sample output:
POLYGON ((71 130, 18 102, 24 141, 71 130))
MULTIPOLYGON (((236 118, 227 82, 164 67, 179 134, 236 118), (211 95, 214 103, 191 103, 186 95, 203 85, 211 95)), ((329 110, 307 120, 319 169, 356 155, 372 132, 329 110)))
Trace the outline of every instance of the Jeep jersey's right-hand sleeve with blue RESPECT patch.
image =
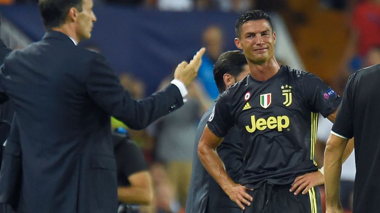
POLYGON ((303 78, 303 91, 307 104, 323 117, 329 116, 340 104, 340 97, 321 78, 307 72, 303 78))

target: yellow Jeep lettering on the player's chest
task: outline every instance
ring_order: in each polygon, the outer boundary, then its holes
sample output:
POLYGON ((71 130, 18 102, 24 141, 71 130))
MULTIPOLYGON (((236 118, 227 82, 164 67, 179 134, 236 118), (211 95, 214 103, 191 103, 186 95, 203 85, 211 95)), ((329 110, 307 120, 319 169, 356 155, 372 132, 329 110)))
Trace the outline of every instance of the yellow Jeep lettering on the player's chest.
POLYGON ((251 116, 251 126, 245 126, 245 129, 249 133, 253 133, 254 131, 259 130, 263 131, 266 128, 268 129, 275 129, 277 128, 277 131, 282 132, 284 128, 289 126, 289 117, 283 115, 283 116, 277 116, 276 117, 269 117, 267 120, 264 118, 259 118, 256 121, 256 118, 254 115, 251 116))

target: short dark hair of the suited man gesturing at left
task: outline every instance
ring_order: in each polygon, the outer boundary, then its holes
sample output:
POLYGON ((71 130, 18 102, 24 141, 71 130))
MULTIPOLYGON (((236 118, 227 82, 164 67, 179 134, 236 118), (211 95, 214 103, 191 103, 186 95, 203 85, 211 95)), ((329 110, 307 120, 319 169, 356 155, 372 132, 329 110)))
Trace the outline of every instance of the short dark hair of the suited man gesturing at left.
POLYGON ((83 0, 39 0, 38 6, 46 29, 61 26, 71 7, 82 11, 83 0))

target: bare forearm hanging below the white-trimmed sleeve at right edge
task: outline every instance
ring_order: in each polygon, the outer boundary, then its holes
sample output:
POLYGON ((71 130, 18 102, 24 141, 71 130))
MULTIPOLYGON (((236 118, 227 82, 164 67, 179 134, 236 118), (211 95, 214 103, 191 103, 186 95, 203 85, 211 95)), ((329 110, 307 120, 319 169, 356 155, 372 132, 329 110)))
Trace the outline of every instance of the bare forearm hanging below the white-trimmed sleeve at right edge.
POLYGON ((330 134, 325 149, 325 190, 328 213, 343 213, 339 202, 339 181, 342 157, 348 140, 330 134))

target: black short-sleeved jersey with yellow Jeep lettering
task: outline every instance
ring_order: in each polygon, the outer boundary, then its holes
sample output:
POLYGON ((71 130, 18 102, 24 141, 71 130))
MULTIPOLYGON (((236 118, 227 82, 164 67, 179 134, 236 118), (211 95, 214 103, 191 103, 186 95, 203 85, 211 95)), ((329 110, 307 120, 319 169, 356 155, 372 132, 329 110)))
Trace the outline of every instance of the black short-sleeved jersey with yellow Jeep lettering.
POLYGON ((218 137, 235 124, 242 136, 243 177, 256 188, 264 182, 291 183, 316 171, 314 146, 318 112, 330 115, 340 98, 320 78, 282 65, 262 82, 248 75, 226 90, 207 122, 218 137))

